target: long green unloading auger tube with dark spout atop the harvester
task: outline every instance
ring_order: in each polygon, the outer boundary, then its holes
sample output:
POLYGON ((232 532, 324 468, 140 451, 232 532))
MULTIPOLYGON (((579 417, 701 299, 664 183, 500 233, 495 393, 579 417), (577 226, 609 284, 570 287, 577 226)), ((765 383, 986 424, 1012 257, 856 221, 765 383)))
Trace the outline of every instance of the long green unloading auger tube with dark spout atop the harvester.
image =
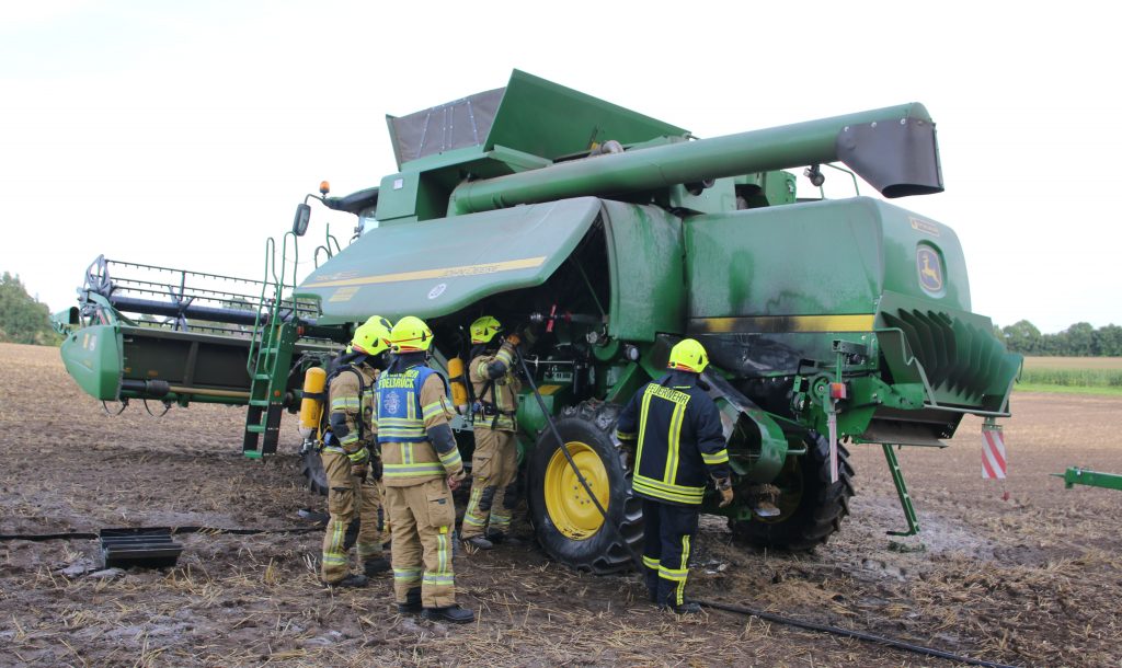
POLYGON ((885 197, 942 192, 935 122, 918 102, 597 156, 461 184, 456 213, 843 161, 885 197))

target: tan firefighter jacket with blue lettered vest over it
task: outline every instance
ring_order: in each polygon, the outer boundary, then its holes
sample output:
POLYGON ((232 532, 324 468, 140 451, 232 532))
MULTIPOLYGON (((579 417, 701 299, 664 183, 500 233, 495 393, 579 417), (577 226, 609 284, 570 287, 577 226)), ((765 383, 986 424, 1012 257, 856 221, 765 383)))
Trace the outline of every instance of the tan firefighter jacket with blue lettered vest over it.
POLYGON ((403 488, 463 470, 449 419, 448 387, 424 358, 399 355, 378 377, 371 420, 381 449, 383 484, 403 488))

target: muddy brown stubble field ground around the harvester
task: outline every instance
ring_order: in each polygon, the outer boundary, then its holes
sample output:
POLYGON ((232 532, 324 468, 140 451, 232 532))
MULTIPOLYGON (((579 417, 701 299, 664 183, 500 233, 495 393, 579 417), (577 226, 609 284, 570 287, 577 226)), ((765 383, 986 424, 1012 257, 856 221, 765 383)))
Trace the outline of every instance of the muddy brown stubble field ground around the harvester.
MULTIPOLYGON (((298 477, 292 421, 287 452, 263 464, 238 454, 240 409, 108 417, 49 347, 0 345, 0 534, 279 529, 323 508, 298 477)), ((756 553, 707 518, 689 593, 990 661, 1122 666, 1122 492, 1048 476, 1122 473, 1122 399, 1024 393, 1013 409, 1004 486, 980 477, 975 418, 948 449, 900 453, 921 539, 885 535, 904 520, 880 447, 858 446, 853 514, 828 545, 756 553)), ((0 664, 954 665, 725 612, 679 620, 645 603, 636 576, 572 573, 530 545, 457 557, 479 621, 448 628, 395 614, 388 578, 322 587, 320 538, 184 535, 177 567, 108 576, 96 541, 0 541, 0 664)))

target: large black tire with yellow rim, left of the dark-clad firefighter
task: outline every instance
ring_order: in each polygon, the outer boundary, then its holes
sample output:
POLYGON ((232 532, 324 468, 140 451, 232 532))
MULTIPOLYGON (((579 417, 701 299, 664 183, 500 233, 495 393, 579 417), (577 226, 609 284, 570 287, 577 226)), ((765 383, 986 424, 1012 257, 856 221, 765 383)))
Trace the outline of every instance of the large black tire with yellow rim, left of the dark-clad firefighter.
POLYGON ((618 416, 617 405, 585 402, 564 409, 557 420, 581 474, 607 510, 607 521, 548 427, 526 466, 530 520, 537 542, 554 560, 597 575, 627 569, 631 550, 640 551, 643 541, 643 504, 632 494, 631 473, 611 438, 618 416))

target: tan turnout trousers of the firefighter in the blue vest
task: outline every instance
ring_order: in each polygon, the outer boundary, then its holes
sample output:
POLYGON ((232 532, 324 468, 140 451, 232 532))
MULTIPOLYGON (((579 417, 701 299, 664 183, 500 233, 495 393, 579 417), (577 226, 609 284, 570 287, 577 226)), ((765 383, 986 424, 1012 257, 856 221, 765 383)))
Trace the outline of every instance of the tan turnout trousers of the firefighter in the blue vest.
POLYGON ((408 486, 387 486, 386 508, 393 531, 394 597, 406 603, 421 587, 424 607, 456 605, 452 531, 456 507, 443 477, 408 486))

